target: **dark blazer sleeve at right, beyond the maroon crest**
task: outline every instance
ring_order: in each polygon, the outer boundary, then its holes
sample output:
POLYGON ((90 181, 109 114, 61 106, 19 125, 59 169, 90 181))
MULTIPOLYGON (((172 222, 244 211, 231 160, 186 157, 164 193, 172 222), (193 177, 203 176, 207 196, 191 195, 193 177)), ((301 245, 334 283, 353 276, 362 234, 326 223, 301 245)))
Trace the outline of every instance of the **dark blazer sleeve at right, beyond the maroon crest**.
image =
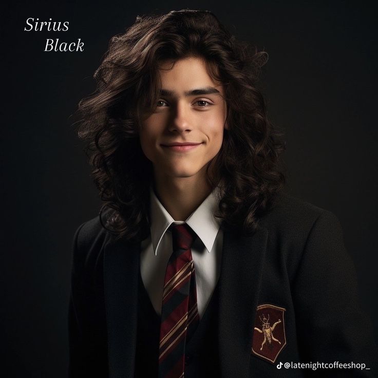
POLYGON ((299 352, 308 362, 364 363, 370 370, 322 369, 322 376, 378 376, 377 348, 357 300, 354 264, 341 225, 324 211, 314 222, 293 286, 299 352))

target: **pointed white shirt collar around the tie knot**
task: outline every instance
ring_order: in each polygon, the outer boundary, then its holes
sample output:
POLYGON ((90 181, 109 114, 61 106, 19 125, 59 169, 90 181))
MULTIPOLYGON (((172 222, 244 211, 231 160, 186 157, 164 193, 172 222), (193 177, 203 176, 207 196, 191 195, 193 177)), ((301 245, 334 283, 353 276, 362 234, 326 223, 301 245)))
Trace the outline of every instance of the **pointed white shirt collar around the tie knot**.
MULTIPOLYGON (((218 210, 219 190, 216 187, 212 193, 197 207, 186 220, 191 229, 201 239, 208 252, 213 248, 215 237, 220 228, 220 221, 214 217, 218 210)), ((163 235, 172 223, 180 224, 182 221, 175 221, 165 210, 153 189, 150 189, 150 232, 155 255, 158 253, 159 244, 163 235)))

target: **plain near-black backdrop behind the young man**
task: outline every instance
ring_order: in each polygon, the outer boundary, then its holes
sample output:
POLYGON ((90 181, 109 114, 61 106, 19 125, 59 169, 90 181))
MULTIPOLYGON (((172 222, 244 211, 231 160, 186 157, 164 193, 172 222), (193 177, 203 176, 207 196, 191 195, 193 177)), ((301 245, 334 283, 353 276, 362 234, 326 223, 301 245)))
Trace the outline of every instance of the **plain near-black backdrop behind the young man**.
MULTIPOLYGON (((210 9, 239 39, 269 53, 261 88, 270 118, 285 129, 287 191, 337 215, 362 307, 373 322, 378 318, 373 4, 126 0, 8 6, 1 18, 5 376, 66 376, 71 241, 100 205, 71 115, 93 91, 91 77, 110 37, 144 13, 210 9), (29 17, 69 21, 69 30, 26 32, 29 17), (47 38, 81 38, 84 52, 44 52, 47 38)), ((361 332, 378 339, 378 323, 361 332)))

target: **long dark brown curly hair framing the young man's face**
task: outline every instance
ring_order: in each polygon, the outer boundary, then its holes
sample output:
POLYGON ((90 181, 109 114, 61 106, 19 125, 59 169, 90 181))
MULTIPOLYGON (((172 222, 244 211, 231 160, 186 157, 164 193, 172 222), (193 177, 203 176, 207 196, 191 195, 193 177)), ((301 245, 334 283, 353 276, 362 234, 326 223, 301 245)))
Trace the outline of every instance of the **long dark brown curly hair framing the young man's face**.
POLYGON ((138 120, 159 99, 159 65, 188 56, 203 58, 224 86, 229 130, 208 177, 214 186, 221 183, 216 216, 223 226, 252 234, 284 185, 279 155, 285 145, 256 87, 267 53, 237 41, 210 11, 138 16, 111 38, 94 73, 97 90, 79 103, 79 137, 89 142, 86 152, 104 202, 100 219, 118 237, 148 236, 153 168, 140 146, 138 120))

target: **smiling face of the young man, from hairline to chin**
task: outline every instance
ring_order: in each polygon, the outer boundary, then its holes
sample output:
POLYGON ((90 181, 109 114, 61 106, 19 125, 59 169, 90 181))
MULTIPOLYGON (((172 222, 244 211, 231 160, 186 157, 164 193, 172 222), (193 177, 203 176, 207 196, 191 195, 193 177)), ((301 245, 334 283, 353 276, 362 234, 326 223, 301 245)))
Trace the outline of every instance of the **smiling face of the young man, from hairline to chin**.
POLYGON ((200 58, 166 63, 160 69, 161 97, 140 122, 140 143, 155 177, 204 175, 218 154, 226 122, 223 88, 200 58))

